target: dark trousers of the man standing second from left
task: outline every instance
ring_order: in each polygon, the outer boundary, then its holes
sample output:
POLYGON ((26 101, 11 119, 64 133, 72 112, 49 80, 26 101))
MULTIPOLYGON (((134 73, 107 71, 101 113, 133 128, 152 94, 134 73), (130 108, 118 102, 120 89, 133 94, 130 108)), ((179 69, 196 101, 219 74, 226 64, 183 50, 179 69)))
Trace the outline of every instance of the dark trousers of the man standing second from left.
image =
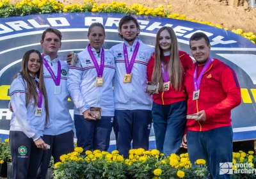
POLYGON ((54 159, 54 164, 60 162, 60 156, 70 152, 74 152, 74 132, 70 130, 57 136, 44 135, 44 142, 51 146, 50 149, 44 150, 38 178, 45 178, 49 168, 51 156, 54 159))

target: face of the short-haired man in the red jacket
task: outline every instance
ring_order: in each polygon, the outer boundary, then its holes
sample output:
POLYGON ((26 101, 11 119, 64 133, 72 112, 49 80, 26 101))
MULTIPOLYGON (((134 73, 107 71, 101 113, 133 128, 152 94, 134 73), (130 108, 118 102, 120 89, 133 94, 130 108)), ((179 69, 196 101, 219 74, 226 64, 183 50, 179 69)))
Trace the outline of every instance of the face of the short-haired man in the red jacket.
POLYGON ((200 40, 192 40, 190 42, 190 49, 198 65, 204 65, 209 58, 211 47, 206 44, 204 38, 200 40))

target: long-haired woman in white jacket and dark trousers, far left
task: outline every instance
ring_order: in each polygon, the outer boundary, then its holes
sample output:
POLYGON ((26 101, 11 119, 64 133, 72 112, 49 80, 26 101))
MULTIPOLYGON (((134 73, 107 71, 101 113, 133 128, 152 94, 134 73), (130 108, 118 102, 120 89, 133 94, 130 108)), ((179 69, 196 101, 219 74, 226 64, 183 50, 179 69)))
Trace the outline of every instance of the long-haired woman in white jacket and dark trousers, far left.
POLYGON ((10 87, 10 97, 12 178, 36 178, 43 149, 47 149, 41 137, 49 117, 40 52, 30 50, 24 54, 22 70, 10 87))

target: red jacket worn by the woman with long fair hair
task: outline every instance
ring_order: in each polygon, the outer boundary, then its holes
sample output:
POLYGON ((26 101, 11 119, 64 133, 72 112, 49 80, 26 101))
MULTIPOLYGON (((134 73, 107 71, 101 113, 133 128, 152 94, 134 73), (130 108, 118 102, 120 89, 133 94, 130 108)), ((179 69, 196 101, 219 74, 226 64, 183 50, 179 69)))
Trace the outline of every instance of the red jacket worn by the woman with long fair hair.
MULTIPOLYGON (((193 65, 193 61, 190 58, 190 56, 186 52, 179 51, 179 57, 181 64, 184 68, 184 71, 188 70, 191 68, 193 65)), ((164 56, 165 61, 168 61, 170 56, 164 56)), ((153 69, 154 69, 154 55, 150 58, 148 61, 148 66, 147 66, 147 76, 148 76, 148 81, 151 81, 152 74, 153 74, 153 69)), ((156 104, 161 104, 161 105, 167 105, 167 104, 173 104, 175 102, 180 102, 186 100, 187 95, 184 93, 184 86, 182 85, 182 88, 180 91, 175 91, 175 89, 170 88, 169 91, 159 91, 158 94, 153 95, 153 101, 156 104)))

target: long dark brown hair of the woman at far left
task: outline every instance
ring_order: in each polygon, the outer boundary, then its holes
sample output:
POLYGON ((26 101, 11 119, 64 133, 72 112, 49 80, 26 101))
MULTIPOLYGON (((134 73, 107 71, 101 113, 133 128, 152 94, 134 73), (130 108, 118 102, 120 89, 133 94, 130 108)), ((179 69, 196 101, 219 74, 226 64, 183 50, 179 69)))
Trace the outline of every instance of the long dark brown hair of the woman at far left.
MULTIPOLYGON (((35 105, 38 105, 38 93, 36 92, 36 86, 40 91, 42 92, 42 95, 44 96, 45 99, 45 121, 47 123, 48 118, 49 118, 49 108, 48 108, 48 100, 47 100, 47 93, 44 85, 44 66, 43 66, 43 60, 42 56, 39 51, 36 50, 30 50, 26 52, 22 58, 22 68, 20 75, 24 81, 24 84, 26 84, 25 89, 26 89, 26 107, 28 106, 31 98, 35 100, 35 105), (29 75, 29 70, 28 70, 28 61, 29 61, 29 56, 31 53, 35 52, 38 54, 39 59, 40 59, 40 70, 36 73, 36 76, 38 77, 39 81, 38 84, 36 85, 35 79, 29 75), (26 83, 25 83, 26 81, 26 83)), ((17 75, 15 75, 17 77, 17 75)))

